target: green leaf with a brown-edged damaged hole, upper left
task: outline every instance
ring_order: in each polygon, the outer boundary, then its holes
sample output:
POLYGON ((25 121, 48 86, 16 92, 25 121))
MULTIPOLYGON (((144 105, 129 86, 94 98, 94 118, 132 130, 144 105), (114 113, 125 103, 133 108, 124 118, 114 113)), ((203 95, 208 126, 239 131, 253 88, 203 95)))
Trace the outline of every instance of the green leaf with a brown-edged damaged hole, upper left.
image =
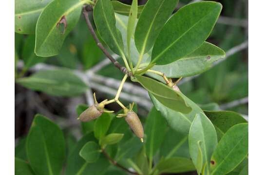
POLYGON ((66 36, 75 27, 85 2, 85 0, 53 0, 45 7, 36 27, 35 53, 38 56, 47 57, 59 53, 66 36))

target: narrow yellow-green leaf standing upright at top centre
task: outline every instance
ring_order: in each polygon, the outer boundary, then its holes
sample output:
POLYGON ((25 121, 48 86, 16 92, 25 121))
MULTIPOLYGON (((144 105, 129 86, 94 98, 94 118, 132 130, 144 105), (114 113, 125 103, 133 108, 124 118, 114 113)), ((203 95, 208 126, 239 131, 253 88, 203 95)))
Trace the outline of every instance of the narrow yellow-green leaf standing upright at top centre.
POLYGON ((128 47, 128 58, 129 58, 129 63, 130 67, 131 66, 131 38, 134 33, 134 27, 136 25, 136 19, 137 19, 137 6, 138 6, 138 0, 132 0, 131 4, 131 11, 129 15, 129 20, 128 20, 128 26, 127 26, 127 47, 128 47))

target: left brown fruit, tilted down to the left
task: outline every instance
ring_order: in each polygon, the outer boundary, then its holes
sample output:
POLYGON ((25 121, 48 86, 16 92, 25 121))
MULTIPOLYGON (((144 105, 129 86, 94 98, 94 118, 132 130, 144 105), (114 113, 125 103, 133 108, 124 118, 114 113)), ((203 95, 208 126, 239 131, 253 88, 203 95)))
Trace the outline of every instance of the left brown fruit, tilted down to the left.
POLYGON ((82 122, 92 121, 101 116, 102 112, 103 110, 97 109, 97 105, 91 105, 88 109, 80 114, 79 120, 82 122))

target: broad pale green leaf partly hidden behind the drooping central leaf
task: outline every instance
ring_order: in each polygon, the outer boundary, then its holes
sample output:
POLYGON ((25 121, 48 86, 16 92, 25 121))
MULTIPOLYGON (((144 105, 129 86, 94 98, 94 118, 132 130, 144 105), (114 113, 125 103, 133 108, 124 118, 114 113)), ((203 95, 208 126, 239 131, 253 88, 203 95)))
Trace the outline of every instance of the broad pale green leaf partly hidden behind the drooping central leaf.
POLYGON ((187 102, 187 104, 192 108, 191 112, 188 114, 184 114, 181 112, 177 112, 172 110, 162 103, 160 103, 152 94, 150 94, 150 98, 154 106, 157 110, 162 113, 162 116, 166 118, 168 125, 174 129, 175 131, 182 133, 184 135, 188 135, 191 123, 197 113, 203 112, 202 109, 196 105, 194 102, 189 100, 184 94, 182 97, 187 102))

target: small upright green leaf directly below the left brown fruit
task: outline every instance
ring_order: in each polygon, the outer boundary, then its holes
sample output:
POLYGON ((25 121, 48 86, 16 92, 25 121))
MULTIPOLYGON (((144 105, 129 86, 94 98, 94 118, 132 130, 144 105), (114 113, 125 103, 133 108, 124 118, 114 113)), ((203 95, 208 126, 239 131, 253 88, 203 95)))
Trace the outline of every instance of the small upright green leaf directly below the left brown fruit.
POLYGON ((107 133, 112 118, 109 113, 102 113, 102 115, 96 120, 94 124, 94 136, 98 140, 102 139, 107 133))

